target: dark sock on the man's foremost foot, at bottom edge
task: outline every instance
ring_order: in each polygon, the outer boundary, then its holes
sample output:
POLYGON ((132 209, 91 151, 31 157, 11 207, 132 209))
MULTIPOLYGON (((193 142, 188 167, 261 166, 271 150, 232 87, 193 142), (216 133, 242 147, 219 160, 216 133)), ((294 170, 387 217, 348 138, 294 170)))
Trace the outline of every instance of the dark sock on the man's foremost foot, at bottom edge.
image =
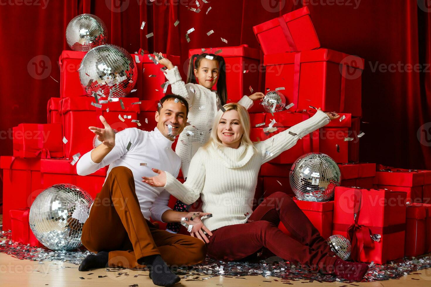
POLYGON ((171 286, 180 281, 180 278, 172 273, 169 266, 163 261, 162 256, 158 254, 146 256, 143 261, 150 270, 150 279, 153 280, 154 285, 171 286))

